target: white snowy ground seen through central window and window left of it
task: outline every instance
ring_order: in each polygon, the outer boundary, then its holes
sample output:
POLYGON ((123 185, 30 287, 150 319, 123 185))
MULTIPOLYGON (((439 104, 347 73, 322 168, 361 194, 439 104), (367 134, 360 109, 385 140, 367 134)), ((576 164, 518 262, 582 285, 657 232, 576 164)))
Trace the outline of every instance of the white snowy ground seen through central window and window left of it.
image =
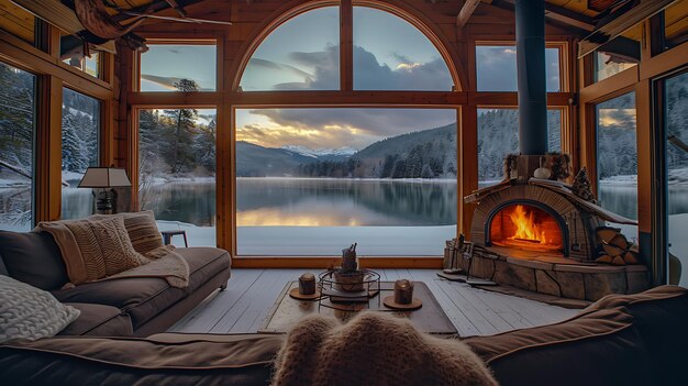
MULTIPOLYGON (((186 230, 189 246, 215 246, 214 227, 157 220, 160 231, 186 230)), ((238 227, 240 255, 339 256, 358 243, 360 256, 440 256, 456 227, 238 227)), ((184 238, 173 244, 184 246, 184 238)))

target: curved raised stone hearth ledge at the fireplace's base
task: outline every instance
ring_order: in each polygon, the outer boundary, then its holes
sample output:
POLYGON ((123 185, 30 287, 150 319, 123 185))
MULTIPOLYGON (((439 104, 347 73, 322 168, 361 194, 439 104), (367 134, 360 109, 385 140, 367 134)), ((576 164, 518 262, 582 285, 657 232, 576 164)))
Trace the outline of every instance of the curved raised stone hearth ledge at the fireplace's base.
POLYGON ((596 301, 609 294, 650 288, 644 265, 584 264, 554 254, 500 246, 474 249, 471 263, 459 258, 471 276, 556 297, 596 301))

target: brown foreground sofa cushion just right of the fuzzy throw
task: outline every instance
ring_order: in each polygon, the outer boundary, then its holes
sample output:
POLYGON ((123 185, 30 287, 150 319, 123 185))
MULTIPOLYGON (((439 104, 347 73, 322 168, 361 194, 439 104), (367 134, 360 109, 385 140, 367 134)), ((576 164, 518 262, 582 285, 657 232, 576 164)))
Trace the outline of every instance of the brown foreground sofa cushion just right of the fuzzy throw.
POLYGON ((464 341, 508 385, 651 385, 656 379, 633 317, 622 308, 464 341))

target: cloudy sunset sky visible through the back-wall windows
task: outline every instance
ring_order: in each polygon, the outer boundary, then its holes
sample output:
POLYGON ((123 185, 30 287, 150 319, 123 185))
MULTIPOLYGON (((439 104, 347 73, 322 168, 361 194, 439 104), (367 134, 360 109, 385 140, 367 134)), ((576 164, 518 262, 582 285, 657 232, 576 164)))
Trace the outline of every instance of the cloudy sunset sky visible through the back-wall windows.
MULTIPOLYGON (((337 90, 339 8, 297 15, 256 48, 241 79, 243 91, 337 90)), ((406 20, 354 7, 354 89, 450 91, 453 80, 440 52, 406 20)), ((155 46, 142 54, 142 90, 174 90, 181 77, 214 89, 213 46, 155 46)), ((515 47, 476 49, 478 88, 515 90, 515 47)), ((558 55, 547 49, 547 90, 558 91, 558 55)), ((266 147, 363 148, 385 137, 456 122, 455 110, 252 109, 236 111, 236 139, 266 147)))

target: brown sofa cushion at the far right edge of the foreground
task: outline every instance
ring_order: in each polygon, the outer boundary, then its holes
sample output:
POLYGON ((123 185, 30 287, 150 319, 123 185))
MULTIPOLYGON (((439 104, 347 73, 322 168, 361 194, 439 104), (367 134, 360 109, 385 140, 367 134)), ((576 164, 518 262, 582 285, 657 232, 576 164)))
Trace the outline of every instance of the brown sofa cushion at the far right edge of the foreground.
POLYGON ((641 294, 609 295, 585 311, 623 307, 633 317, 658 385, 688 384, 688 291, 678 286, 661 286, 641 294))

